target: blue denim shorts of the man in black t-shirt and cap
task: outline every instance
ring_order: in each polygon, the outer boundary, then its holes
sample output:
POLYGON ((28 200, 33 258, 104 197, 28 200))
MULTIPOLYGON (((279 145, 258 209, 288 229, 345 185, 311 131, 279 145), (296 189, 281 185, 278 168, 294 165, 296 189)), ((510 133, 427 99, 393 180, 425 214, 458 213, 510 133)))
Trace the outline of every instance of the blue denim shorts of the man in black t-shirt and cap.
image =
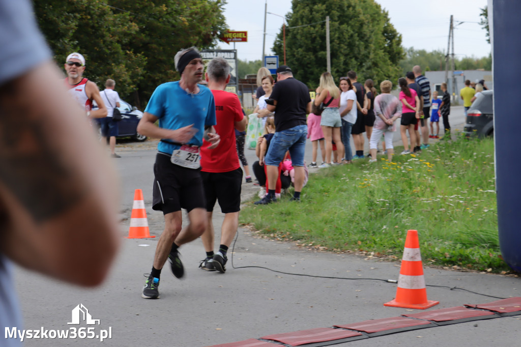
POLYGON ((269 143, 266 153, 266 165, 279 166, 284 155, 290 151, 293 166, 304 166, 304 150, 306 148, 307 125, 277 131, 269 143))

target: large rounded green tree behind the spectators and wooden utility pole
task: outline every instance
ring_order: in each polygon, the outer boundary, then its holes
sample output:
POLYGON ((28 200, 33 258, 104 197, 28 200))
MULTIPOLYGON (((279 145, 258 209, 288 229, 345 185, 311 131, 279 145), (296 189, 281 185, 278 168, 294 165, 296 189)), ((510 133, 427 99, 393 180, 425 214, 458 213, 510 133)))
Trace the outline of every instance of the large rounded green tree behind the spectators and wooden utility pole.
MULTIPOLYGON (((309 88, 326 71, 326 16, 330 19, 331 73, 338 78, 349 70, 358 79, 396 80, 403 57, 402 36, 387 11, 374 0, 293 0, 286 15, 286 56, 297 79, 309 88), (311 25, 309 25, 311 24, 311 25)), ((283 54, 282 29, 273 50, 283 54)))

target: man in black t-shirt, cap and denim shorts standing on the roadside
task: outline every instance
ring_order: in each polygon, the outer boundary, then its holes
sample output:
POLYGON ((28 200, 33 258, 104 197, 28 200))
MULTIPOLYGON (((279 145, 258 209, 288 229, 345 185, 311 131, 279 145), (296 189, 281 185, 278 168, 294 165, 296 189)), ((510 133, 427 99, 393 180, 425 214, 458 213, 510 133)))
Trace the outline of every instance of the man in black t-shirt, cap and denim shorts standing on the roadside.
POLYGON ((275 112, 275 134, 265 157, 268 173, 268 194, 255 204, 269 204, 277 201, 275 184, 277 183, 278 167, 289 151, 291 162, 295 169, 295 192, 292 201, 300 201, 300 193, 304 185, 304 149, 306 146, 306 114, 311 113, 311 97, 307 86, 293 78, 289 66, 282 65, 277 69, 277 83, 268 103, 268 110, 275 112))

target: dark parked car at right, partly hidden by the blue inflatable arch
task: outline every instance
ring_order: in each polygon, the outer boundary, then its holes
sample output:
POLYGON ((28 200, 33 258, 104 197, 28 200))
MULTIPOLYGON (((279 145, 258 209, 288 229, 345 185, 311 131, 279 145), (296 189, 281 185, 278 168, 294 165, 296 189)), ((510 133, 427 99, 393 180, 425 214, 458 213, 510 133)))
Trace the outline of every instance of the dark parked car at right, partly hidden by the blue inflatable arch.
POLYGON ((478 95, 467 111, 465 134, 479 137, 494 136, 493 91, 485 90, 478 95))

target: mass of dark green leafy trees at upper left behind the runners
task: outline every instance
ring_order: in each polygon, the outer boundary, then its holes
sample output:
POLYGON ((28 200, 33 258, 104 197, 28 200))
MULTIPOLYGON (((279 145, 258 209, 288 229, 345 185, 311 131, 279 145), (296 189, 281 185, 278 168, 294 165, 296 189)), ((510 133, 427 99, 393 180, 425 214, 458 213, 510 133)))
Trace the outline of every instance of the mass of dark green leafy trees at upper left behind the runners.
POLYGON ((85 76, 117 82, 122 98, 146 103, 156 86, 179 79, 181 48, 211 47, 226 30, 225 0, 35 0, 34 11, 61 64, 77 51, 85 76))

